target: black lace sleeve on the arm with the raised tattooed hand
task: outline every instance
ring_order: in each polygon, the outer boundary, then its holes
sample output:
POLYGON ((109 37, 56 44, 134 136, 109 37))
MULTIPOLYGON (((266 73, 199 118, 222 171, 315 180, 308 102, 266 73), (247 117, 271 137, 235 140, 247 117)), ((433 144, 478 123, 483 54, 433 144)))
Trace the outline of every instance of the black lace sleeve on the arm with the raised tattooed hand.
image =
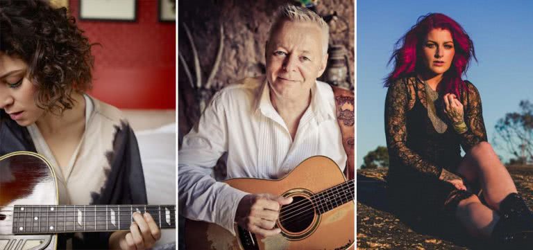
POLYGON ((460 134, 461 145, 465 152, 482 141, 487 141, 487 131, 483 122, 480 92, 471 82, 466 81, 467 91, 464 93, 464 123, 468 130, 460 134))

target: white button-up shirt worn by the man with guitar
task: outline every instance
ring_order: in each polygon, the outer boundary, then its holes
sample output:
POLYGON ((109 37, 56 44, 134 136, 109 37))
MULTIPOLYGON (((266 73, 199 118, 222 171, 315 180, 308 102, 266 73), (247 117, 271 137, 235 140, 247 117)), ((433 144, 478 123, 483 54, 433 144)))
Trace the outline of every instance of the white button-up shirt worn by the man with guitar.
POLYGON ((228 152, 228 179, 279 179, 315 155, 330 157, 344 170, 347 157, 335 110, 331 87, 316 81, 293 141, 272 106, 264 76, 217 92, 178 153, 180 213, 219 224, 235 235, 237 205, 248 193, 210 176, 223 152, 228 152))

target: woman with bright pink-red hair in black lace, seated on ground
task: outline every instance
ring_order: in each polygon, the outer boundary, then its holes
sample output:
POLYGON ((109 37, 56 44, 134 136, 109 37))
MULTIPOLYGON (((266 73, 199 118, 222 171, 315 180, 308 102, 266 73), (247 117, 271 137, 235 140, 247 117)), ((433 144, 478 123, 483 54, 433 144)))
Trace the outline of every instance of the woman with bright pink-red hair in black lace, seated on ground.
POLYGON ((487 143, 479 92, 461 78, 475 58, 470 37, 450 17, 432 13, 396 46, 384 84, 385 134, 389 190, 400 215, 455 217, 475 237, 531 244, 532 212, 487 143), (482 198, 473 194, 478 189, 482 198))

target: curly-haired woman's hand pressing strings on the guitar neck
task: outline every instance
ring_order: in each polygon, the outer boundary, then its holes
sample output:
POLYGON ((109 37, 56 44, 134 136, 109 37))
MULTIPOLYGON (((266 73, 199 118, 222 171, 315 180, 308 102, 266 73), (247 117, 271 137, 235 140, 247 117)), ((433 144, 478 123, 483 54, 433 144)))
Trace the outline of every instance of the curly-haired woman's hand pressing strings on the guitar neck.
POLYGON ((161 238, 161 230, 149 213, 133 213, 130 231, 117 231, 109 238, 111 249, 151 249, 161 238))

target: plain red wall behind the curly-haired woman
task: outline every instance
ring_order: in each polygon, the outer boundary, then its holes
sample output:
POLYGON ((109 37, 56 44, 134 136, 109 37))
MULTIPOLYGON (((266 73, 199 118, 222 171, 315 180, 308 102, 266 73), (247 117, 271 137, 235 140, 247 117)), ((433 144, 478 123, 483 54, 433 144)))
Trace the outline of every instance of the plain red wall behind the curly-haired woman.
POLYGON ((69 0, 78 27, 93 46, 90 94, 126 109, 176 108, 176 24, 158 21, 158 1, 137 1, 137 21, 85 21, 69 0))

